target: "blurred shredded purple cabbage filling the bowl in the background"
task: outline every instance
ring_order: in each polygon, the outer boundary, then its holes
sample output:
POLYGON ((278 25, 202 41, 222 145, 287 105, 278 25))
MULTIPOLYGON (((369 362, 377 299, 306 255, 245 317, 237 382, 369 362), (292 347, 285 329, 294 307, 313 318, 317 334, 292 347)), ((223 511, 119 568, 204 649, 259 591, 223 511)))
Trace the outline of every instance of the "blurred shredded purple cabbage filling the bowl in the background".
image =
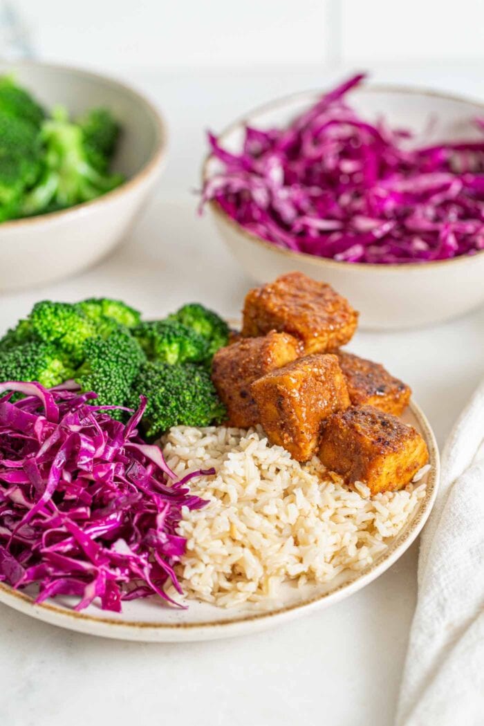
MULTIPOLYGON (((208 141, 221 173, 205 182, 248 232, 346 262, 426 262, 484 249, 484 142, 410 147, 409 131, 358 118, 350 78, 284 129, 245 128, 239 153, 208 141)), ((484 123, 476 119, 481 131, 484 123)))

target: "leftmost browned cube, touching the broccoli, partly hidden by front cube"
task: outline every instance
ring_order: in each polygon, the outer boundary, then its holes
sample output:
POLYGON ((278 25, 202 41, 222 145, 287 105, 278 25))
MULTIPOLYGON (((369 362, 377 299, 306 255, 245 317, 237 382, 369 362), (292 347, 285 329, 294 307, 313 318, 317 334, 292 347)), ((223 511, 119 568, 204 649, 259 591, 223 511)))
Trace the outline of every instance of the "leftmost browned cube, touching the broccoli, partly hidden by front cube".
POLYGON ((229 423, 249 428, 259 423, 250 384, 300 355, 300 343, 288 333, 271 333, 260 338, 242 338, 220 348, 212 362, 212 380, 229 412, 229 423))

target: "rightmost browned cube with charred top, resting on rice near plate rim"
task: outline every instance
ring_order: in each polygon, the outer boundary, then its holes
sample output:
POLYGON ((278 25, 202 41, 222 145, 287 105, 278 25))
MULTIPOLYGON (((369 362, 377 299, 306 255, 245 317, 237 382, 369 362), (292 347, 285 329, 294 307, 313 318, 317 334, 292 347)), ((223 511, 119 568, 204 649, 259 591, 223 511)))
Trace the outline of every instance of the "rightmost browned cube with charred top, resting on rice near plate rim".
POLYGON ((377 494, 409 484, 429 454, 419 432, 396 416, 352 406, 325 425, 319 458, 348 484, 364 481, 377 494))

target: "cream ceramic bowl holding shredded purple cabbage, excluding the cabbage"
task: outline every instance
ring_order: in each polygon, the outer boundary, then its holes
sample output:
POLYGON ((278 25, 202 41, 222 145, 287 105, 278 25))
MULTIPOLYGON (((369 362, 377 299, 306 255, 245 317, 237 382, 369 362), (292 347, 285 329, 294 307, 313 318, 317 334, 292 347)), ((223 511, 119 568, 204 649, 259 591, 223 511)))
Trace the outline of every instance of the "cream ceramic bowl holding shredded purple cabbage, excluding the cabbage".
MULTIPOLYGON (((279 99, 245 115, 220 135, 221 143, 237 150, 245 123, 268 128, 283 126, 312 105, 321 91, 279 99)), ((365 86, 350 92, 350 102, 366 118, 385 119, 396 126, 422 130, 435 118, 427 142, 452 138, 478 138, 472 120, 484 115, 484 105, 433 91, 401 87, 365 86)), ((220 168, 209 155, 203 179, 220 168)), ((361 327, 396 330, 419 327, 457 317, 484 303, 484 251, 474 256, 425 264, 374 265, 337 262, 283 250, 247 232, 216 203, 208 207, 218 232, 242 267, 258 282, 299 270, 329 282, 361 312, 361 327)))

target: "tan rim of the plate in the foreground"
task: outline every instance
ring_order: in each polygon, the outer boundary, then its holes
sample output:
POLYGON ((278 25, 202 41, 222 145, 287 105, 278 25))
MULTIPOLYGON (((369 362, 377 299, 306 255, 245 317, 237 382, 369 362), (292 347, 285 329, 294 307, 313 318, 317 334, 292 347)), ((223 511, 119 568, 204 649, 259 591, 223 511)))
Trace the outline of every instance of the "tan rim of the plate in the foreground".
MULTIPOLYGON (((328 597, 335 595, 337 592, 343 592, 346 589, 350 589, 351 586, 353 584, 356 584, 356 582, 358 582, 358 580, 360 579, 367 579, 367 582, 371 582, 372 579, 374 579, 374 577, 378 575, 378 571, 380 570, 382 565, 387 562, 387 560, 390 560, 389 566, 391 566, 393 555, 404 542, 409 542, 410 545, 411 542, 413 542, 414 539, 417 537, 419 525, 422 520, 423 522, 425 522, 428 515, 430 514, 432 502, 435 499, 435 495, 437 493, 438 478, 440 472, 440 458, 438 453, 438 446, 435 442, 435 436, 432 432, 432 429, 430 428, 430 423, 427 421, 427 417, 425 417, 420 407, 416 403, 414 403, 414 401, 410 402, 410 410, 417 419, 419 429, 429 449, 429 463, 431 469, 427 479, 425 496, 419 502, 417 513, 414 515, 414 518, 411 520, 406 531, 400 536, 397 535, 395 539, 390 542, 385 551, 382 552, 380 558, 377 558, 377 560, 371 565, 368 565, 362 570, 359 570, 358 573, 355 574, 355 576, 350 579, 349 582, 335 585, 335 587, 332 587, 331 590, 328 590, 328 592, 324 592, 321 595, 312 595, 311 597, 307 597, 305 600, 301 600, 300 603, 284 605, 283 607, 274 609, 272 611, 247 613, 233 619, 226 618, 217 621, 195 621, 192 623, 156 623, 147 621, 124 621, 109 618, 97 618, 92 615, 78 613, 68 608, 60 608, 58 605, 52 605, 51 603, 40 603, 39 605, 35 605, 35 607, 41 608, 41 610, 44 611, 56 613, 57 615, 66 616, 67 618, 72 618, 76 621, 81 620, 94 622, 100 625, 113 625, 120 629, 155 629, 158 631, 176 629, 193 630, 197 628, 215 628, 218 626, 229 626, 247 621, 261 621, 263 619, 269 620, 271 619, 271 617, 280 616, 283 613, 289 613, 295 610, 299 610, 300 608, 305 608, 308 605, 313 605, 314 603, 318 603, 321 600, 327 600, 328 597)), ((12 587, 9 587, 9 585, 3 584, 1 582, 0 590, 7 593, 10 597, 17 598, 23 603, 28 603, 30 605, 35 604, 33 598, 29 595, 26 595, 24 592, 20 592, 18 590, 13 590, 12 587)), ((25 612, 25 610, 23 610, 23 612, 25 612)))

